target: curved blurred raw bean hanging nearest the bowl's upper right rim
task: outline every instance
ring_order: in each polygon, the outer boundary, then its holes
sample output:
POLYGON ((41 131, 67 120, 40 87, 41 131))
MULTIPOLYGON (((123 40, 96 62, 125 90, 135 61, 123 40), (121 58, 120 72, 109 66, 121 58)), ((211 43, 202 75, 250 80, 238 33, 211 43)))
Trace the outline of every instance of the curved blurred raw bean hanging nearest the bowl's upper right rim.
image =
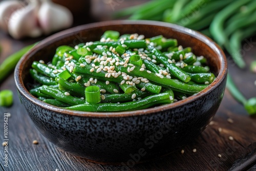
POLYGON ((223 46, 228 42, 228 38, 224 31, 225 20, 248 2, 250 2, 250 0, 237 0, 218 12, 212 20, 210 24, 210 32, 220 46, 223 46))

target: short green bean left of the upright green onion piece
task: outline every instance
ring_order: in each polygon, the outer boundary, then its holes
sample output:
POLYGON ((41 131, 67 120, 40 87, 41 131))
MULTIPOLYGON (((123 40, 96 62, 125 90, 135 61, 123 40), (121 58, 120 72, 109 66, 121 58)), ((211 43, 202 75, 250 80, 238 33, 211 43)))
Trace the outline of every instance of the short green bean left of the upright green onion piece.
POLYGON ((75 104, 82 104, 85 103, 86 101, 77 97, 73 97, 69 95, 69 93, 65 91, 61 91, 57 88, 53 88, 50 86, 41 86, 39 88, 40 93, 51 96, 54 99, 57 99, 59 101, 75 105, 75 104))

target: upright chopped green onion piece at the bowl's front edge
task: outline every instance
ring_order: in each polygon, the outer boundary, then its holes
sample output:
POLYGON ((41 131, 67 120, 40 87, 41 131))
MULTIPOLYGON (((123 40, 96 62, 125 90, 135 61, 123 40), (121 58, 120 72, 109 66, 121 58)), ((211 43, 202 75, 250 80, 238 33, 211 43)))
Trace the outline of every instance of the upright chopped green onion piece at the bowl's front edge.
POLYGON ((98 86, 89 86, 86 88, 86 101, 93 104, 101 101, 100 89, 98 86))

